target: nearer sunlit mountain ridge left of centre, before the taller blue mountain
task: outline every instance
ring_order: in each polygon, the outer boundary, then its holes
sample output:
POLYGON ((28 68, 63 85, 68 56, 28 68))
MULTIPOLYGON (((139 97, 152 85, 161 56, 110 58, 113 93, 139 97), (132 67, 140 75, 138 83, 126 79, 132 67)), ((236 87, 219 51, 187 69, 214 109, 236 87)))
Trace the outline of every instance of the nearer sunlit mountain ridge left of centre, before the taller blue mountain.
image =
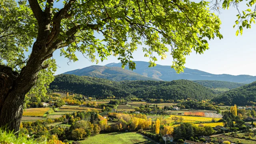
POLYGON ((121 67, 107 67, 107 66, 89 66, 82 69, 72 70, 64 74, 75 74, 78 76, 91 76, 96 78, 106 78, 108 80, 121 81, 121 80, 158 80, 149 78, 123 69, 121 67))

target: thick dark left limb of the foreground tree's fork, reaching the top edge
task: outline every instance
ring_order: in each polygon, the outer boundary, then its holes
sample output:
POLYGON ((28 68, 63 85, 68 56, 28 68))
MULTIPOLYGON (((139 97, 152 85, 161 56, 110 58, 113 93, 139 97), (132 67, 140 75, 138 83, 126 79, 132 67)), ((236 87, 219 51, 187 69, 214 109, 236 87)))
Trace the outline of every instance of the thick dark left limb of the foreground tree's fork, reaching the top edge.
POLYGON ((36 20, 40 22, 43 18, 43 11, 40 8, 40 5, 38 4, 37 0, 28 0, 30 8, 36 17, 36 20))

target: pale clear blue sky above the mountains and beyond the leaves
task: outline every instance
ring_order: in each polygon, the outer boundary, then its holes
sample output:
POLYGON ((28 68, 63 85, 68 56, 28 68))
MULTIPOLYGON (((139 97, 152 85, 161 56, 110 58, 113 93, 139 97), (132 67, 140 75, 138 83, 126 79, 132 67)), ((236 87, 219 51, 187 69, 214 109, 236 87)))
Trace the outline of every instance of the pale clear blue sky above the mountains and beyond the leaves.
MULTIPOLYGON (((248 7, 243 4, 240 5, 239 9, 246 10, 248 7)), ((254 44, 256 25, 252 24, 251 29, 244 28, 242 36, 240 34, 236 36, 237 28, 233 28, 237 19, 236 14, 238 14, 236 8, 221 10, 220 14, 217 12, 216 14, 222 21, 220 33, 223 35, 223 39, 215 38, 208 41, 210 49, 206 50, 204 54, 200 55, 192 52, 189 56, 186 56, 185 67, 212 74, 248 74, 256 76, 256 48, 254 44)), ((60 50, 55 51, 53 58, 56 59, 59 66, 56 74, 96 65, 95 62, 88 61, 79 52, 77 57, 77 62, 70 63, 67 58, 60 56, 60 50)), ((133 53, 133 58, 133 61, 149 61, 149 58, 144 57, 142 46, 139 46, 138 50, 133 53)), ((110 56, 108 60, 100 61, 97 65, 104 66, 112 62, 118 63, 119 61, 117 57, 110 56)), ((158 58, 156 64, 170 66, 172 65, 172 57, 168 55, 165 60, 158 58)))

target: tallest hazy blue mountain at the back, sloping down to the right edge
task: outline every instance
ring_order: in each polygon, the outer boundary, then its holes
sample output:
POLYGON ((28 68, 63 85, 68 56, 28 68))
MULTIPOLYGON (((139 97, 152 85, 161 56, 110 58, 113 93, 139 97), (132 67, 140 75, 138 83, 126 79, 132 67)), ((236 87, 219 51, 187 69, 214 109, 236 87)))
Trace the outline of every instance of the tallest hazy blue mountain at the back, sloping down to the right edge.
MULTIPOLYGON (((156 65, 155 67, 148 68, 148 62, 134 61, 136 63, 136 69, 133 72, 154 78, 157 80, 172 81, 172 80, 220 80, 227 82, 240 82, 240 83, 251 83, 256 81, 256 76, 249 75, 230 75, 230 74, 210 74, 200 70, 194 70, 186 68, 184 73, 177 74, 171 66, 156 65)), ((108 67, 121 67, 121 63, 110 63, 105 66, 108 67)), ((129 70, 128 66, 125 69, 129 70)))

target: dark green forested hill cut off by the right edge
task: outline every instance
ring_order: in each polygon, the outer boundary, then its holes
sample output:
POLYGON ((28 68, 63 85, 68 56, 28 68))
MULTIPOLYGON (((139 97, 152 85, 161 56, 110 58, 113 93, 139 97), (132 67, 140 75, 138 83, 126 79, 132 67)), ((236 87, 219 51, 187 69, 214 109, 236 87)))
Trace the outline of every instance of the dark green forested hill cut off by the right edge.
POLYGON ((256 102, 256 82, 223 92, 214 98, 213 101, 226 105, 252 105, 250 101, 256 102))

